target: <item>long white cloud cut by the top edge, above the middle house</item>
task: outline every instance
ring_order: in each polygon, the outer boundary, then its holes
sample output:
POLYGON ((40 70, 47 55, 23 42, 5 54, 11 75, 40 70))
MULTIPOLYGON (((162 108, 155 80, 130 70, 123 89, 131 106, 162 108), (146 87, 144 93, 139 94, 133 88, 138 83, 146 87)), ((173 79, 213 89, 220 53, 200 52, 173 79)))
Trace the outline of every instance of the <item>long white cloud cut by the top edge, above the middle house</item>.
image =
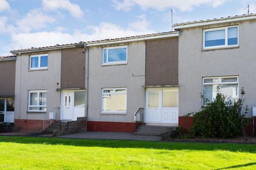
POLYGON ((139 5, 143 10, 146 10, 147 8, 155 8, 158 11, 163 11, 166 8, 177 8, 178 10, 184 12, 184 11, 192 11, 194 7, 202 5, 202 4, 208 4, 212 7, 217 7, 223 3, 225 3, 228 0, 114 0, 114 6, 117 10, 130 10, 130 8, 137 4, 139 5))

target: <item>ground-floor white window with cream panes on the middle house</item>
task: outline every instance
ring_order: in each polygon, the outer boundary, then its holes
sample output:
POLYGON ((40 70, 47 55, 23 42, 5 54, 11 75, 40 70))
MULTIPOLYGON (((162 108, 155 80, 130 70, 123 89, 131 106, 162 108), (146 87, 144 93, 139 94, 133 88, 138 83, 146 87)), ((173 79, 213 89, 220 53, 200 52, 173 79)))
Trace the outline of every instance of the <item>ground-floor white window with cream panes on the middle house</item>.
POLYGON ((102 112, 101 113, 126 113, 126 88, 102 89, 102 112))

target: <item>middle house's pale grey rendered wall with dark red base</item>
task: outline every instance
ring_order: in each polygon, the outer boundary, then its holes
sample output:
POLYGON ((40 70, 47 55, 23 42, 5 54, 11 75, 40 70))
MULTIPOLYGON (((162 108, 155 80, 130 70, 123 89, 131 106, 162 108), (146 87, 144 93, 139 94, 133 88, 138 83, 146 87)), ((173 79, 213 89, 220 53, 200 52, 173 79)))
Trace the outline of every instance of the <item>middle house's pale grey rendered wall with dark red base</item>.
MULTIPOLYGON (((134 114, 145 107, 146 43, 128 43, 127 64, 102 64, 102 46, 89 48, 89 131, 133 132, 134 114), (127 113, 102 114, 102 88, 127 88, 127 113)), ((115 45, 113 45, 115 46, 115 45)))

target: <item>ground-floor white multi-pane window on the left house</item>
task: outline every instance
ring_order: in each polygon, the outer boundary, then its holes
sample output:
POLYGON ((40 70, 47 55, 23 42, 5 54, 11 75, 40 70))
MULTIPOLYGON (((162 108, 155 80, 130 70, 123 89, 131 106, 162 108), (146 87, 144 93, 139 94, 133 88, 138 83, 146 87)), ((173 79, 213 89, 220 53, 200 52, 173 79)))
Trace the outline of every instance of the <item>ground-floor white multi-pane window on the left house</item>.
POLYGON ((46 112, 47 90, 29 90, 28 111, 46 112))

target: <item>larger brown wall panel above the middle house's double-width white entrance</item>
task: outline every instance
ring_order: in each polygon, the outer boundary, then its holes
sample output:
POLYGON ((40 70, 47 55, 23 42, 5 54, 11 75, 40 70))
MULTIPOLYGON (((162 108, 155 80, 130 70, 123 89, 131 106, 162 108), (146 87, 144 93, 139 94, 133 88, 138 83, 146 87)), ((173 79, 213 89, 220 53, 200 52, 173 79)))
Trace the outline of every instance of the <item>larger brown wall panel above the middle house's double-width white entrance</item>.
POLYGON ((178 85, 178 37, 146 43, 146 86, 178 85))

